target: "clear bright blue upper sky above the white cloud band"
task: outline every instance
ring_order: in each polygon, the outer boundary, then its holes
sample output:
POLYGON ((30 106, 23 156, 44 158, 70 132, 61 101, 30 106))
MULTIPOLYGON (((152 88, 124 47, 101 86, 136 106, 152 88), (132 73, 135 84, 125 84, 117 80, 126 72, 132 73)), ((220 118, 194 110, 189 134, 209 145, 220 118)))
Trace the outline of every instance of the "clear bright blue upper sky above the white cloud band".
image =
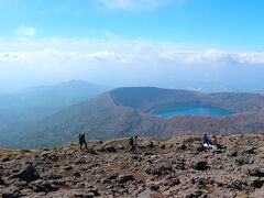
POLYGON ((0 0, 0 36, 103 37, 263 48, 262 0, 0 0), (18 36, 18 35, 16 35, 18 36))

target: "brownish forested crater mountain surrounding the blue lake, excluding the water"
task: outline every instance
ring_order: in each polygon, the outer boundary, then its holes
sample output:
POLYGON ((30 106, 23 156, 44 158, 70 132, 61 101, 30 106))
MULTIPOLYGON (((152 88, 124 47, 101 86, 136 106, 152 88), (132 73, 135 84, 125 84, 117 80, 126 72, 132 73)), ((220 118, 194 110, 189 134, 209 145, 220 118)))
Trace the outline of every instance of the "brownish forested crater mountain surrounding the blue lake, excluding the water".
POLYGON ((166 139, 175 134, 240 133, 264 131, 264 96, 258 94, 202 94, 153 87, 119 88, 74 105, 37 124, 19 138, 15 146, 48 147, 75 142, 79 132, 88 140, 140 134, 166 139), (233 112, 226 117, 175 116, 150 112, 175 103, 199 103, 233 112))

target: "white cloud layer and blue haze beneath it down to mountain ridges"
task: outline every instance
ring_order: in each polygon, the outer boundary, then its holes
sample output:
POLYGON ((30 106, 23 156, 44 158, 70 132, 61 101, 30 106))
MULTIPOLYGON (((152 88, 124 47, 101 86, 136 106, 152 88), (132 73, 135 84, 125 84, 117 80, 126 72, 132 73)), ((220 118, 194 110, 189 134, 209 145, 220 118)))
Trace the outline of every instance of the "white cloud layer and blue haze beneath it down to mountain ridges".
POLYGON ((80 78, 109 86, 264 90, 264 52, 56 37, 0 40, 0 89, 80 78))

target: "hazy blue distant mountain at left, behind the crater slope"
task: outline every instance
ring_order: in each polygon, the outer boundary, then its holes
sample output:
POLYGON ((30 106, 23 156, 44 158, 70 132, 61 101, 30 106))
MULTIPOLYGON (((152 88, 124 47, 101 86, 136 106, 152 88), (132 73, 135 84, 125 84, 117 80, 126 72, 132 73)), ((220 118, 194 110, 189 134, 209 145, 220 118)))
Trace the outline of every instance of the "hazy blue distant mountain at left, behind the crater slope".
POLYGON ((88 100, 107 87, 70 80, 0 95, 0 145, 24 129, 75 103, 88 100))

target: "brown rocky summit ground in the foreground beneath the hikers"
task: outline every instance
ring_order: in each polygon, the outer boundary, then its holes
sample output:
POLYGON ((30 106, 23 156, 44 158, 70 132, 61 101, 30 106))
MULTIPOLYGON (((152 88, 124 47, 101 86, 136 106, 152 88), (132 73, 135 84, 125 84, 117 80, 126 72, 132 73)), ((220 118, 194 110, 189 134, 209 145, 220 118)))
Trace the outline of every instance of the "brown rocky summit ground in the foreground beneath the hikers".
POLYGON ((0 150, 0 195, 14 197, 264 197, 264 133, 128 139, 45 150, 0 150))

